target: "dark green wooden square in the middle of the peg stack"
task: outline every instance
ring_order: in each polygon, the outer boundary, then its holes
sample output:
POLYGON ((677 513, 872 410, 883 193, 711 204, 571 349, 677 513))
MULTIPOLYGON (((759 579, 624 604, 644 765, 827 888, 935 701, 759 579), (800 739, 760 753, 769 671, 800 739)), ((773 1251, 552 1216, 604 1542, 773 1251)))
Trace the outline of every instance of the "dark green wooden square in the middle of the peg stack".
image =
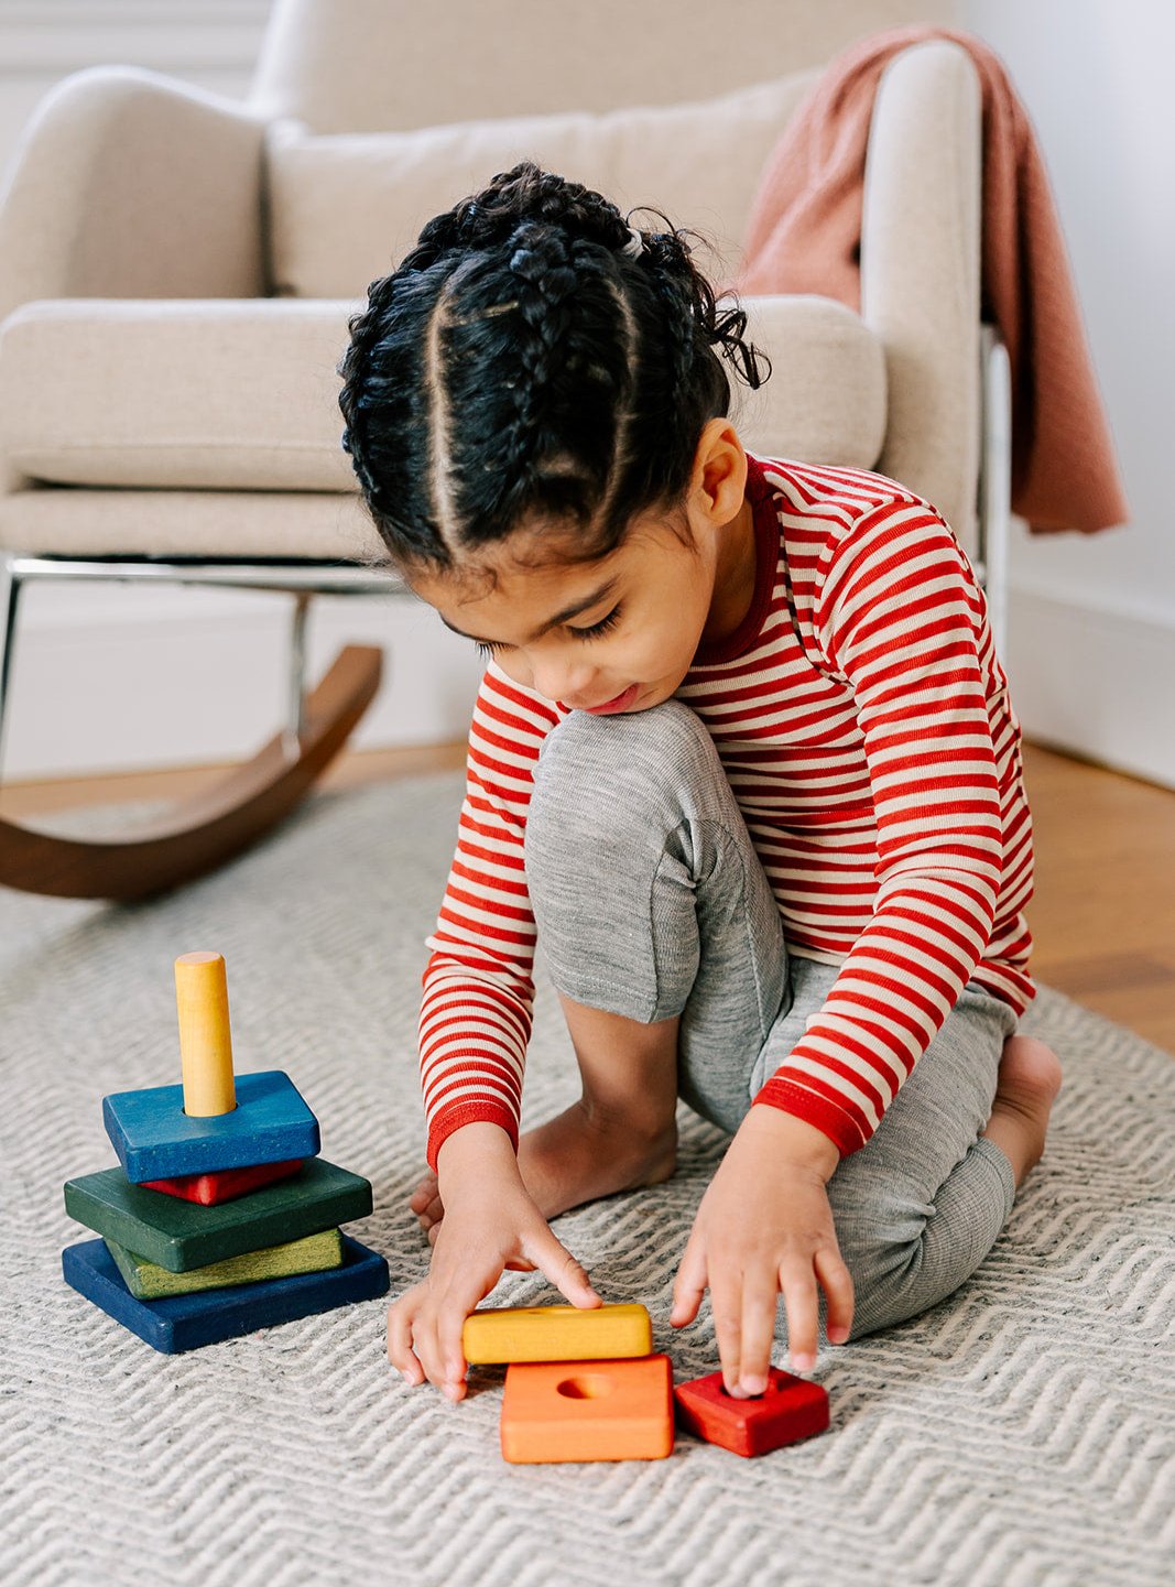
POLYGON ((292 1179, 219 1206, 132 1185, 121 1168, 70 1179, 65 1211, 103 1239, 168 1273, 191 1273, 246 1251, 319 1235, 372 1211, 370 1181, 313 1157, 292 1179))

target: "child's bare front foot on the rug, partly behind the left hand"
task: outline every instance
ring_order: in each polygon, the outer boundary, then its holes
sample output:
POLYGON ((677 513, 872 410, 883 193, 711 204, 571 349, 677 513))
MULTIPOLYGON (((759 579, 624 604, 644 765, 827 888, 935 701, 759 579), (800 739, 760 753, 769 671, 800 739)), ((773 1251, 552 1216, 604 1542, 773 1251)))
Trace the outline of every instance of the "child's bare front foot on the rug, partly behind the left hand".
MULTIPOLYGON (((526 1132, 518 1166, 543 1217, 557 1217, 583 1201, 668 1179, 676 1168, 676 1122, 670 1119, 662 1130, 640 1130, 592 1116, 578 1101, 526 1132)), ((435 1241, 445 1216, 437 1174, 424 1174, 408 1206, 429 1241, 435 1241)))

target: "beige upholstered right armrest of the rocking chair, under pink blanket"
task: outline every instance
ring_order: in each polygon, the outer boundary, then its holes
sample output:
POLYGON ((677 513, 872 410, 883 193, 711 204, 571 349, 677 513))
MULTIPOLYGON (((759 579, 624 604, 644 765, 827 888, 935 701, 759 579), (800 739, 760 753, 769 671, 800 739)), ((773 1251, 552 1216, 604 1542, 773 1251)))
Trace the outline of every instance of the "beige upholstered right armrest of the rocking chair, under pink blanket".
POLYGON ((878 468, 926 495, 975 554, 980 448, 980 81, 948 40, 881 76, 865 160, 861 313, 886 348, 878 468))

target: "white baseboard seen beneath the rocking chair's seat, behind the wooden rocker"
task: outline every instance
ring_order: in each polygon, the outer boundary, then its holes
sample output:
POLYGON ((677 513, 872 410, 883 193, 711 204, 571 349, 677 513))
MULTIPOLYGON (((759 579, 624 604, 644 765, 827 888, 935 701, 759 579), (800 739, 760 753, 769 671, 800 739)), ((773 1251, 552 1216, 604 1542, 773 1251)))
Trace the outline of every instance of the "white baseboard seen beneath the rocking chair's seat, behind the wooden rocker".
MULTIPOLYGON (((5 781, 208 765, 284 725, 292 601, 224 590, 29 586, 5 725, 5 781)), ((306 678, 343 644, 381 644, 384 681, 352 747, 462 740, 473 646, 413 600, 310 608, 306 678)))

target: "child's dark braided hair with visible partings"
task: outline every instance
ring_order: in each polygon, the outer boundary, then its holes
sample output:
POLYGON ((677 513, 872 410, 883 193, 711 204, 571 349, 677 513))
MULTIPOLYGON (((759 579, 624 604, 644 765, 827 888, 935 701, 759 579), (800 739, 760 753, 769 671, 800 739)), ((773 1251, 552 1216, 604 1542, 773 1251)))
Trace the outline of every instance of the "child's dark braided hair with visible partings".
POLYGON ((697 233, 649 213, 665 230, 637 246, 616 205, 522 160, 372 282, 338 367, 343 448, 397 565, 449 571, 540 525, 592 560, 680 509, 730 405, 718 352, 751 387, 767 376, 691 259, 697 233))

